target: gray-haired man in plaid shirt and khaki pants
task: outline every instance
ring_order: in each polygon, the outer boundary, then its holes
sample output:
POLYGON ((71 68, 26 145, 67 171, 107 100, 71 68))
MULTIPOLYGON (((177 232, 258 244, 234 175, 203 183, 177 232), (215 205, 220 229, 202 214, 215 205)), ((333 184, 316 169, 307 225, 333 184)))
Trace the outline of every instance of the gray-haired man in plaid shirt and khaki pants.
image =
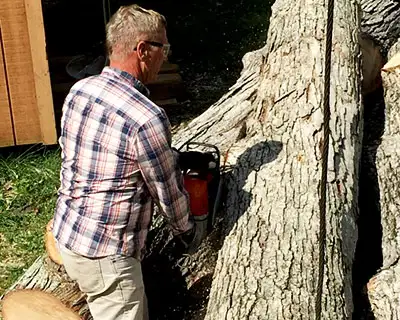
POLYGON ((147 319, 140 260, 152 202, 183 243, 199 243, 168 118, 145 87, 168 55, 165 18, 121 7, 106 43, 110 66, 76 83, 63 106, 53 232, 94 320, 147 319))

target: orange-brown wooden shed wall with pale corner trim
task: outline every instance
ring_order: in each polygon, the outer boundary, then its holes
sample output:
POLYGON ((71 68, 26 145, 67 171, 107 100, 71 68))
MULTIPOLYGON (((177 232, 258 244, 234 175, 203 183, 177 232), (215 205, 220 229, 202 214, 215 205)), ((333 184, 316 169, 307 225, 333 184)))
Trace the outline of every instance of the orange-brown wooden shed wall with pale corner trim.
POLYGON ((0 147, 56 142, 41 0, 1 0, 0 147))

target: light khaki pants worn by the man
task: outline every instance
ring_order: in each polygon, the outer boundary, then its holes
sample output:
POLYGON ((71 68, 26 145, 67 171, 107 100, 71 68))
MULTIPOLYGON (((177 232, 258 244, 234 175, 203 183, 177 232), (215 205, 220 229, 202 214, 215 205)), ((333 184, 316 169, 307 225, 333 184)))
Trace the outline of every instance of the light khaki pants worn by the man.
POLYGON ((93 320, 147 320, 140 262, 128 256, 86 258, 61 247, 65 270, 76 281, 93 320))

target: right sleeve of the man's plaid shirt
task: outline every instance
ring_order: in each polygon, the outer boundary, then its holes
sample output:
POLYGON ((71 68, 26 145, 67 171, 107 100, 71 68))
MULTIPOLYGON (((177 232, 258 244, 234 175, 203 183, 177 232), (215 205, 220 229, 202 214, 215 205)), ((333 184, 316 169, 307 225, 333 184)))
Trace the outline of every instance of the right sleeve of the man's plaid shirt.
POLYGON ((170 123, 166 115, 152 118, 138 130, 136 152, 149 192, 173 233, 177 235, 191 229, 189 195, 171 148, 170 123))

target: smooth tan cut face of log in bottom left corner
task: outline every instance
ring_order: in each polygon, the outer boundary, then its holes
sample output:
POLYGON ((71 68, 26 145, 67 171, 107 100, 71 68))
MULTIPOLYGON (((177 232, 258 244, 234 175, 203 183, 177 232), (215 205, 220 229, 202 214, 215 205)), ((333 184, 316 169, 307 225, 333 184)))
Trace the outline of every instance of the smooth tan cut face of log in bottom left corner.
POLYGON ((39 290, 16 290, 3 301, 4 320, 81 320, 60 300, 39 290))

